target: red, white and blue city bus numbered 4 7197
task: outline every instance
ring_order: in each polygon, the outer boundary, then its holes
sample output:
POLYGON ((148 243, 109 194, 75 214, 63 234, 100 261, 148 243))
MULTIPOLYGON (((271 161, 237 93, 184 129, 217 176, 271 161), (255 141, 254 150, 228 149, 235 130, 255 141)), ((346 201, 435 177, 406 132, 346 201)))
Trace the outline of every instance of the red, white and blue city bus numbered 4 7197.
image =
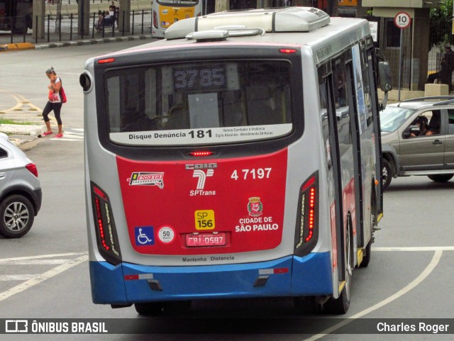
POLYGON ((165 35, 80 77, 94 303, 311 296, 345 313, 382 216, 390 81, 369 24, 294 7, 165 35))

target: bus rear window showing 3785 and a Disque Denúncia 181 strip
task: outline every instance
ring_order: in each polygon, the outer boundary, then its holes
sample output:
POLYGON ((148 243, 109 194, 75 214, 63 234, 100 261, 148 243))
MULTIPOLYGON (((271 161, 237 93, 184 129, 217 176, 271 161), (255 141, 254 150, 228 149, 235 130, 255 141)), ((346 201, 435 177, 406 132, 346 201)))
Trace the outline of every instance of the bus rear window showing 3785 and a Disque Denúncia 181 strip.
POLYGON ((112 142, 204 145, 292 131, 286 61, 192 62, 106 73, 112 142))

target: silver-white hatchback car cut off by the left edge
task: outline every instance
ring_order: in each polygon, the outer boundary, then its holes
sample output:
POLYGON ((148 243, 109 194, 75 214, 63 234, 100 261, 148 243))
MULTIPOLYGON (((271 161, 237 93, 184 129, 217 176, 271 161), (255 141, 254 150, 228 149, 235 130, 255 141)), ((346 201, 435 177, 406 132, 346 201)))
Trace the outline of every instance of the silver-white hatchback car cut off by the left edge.
POLYGON ((40 211, 42 196, 36 165, 0 133, 0 235, 26 235, 40 211))

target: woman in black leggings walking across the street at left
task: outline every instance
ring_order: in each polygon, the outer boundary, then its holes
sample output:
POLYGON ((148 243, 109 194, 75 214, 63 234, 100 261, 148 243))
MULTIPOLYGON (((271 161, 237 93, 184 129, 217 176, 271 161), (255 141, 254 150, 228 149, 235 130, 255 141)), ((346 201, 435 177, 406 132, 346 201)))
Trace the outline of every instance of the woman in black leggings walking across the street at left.
POLYGON ((55 135, 55 138, 62 138, 63 137, 63 130, 62 130, 62 119, 60 118, 60 111, 62 109, 62 99, 60 96, 60 89, 62 88, 62 80, 57 77, 55 74, 55 70, 53 67, 47 69, 45 72, 46 76, 50 79, 50 84, 48 85, 49 89, 49 101, 48 104, 45 105, 43 110, 43 118, 45 122, 46 128, 48 130, 43 133, 44 136, 52 134, 52 130, 50 129, 50 121, 49 121, 49 113, 50 111, 54 111, 55 119, 57 120, 58 124, 58 133, 55 135))

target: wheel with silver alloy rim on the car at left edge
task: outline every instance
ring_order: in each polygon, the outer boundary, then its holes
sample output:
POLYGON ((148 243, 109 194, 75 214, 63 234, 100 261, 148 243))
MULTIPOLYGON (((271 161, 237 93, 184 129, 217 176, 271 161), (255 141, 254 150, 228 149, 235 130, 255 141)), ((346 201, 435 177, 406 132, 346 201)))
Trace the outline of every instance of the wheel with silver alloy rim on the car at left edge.
POLYGON ((13 194, 0 204, 0 234, 7 238, 26 235, 35 220, 35 209, 25 196, 13 194))

